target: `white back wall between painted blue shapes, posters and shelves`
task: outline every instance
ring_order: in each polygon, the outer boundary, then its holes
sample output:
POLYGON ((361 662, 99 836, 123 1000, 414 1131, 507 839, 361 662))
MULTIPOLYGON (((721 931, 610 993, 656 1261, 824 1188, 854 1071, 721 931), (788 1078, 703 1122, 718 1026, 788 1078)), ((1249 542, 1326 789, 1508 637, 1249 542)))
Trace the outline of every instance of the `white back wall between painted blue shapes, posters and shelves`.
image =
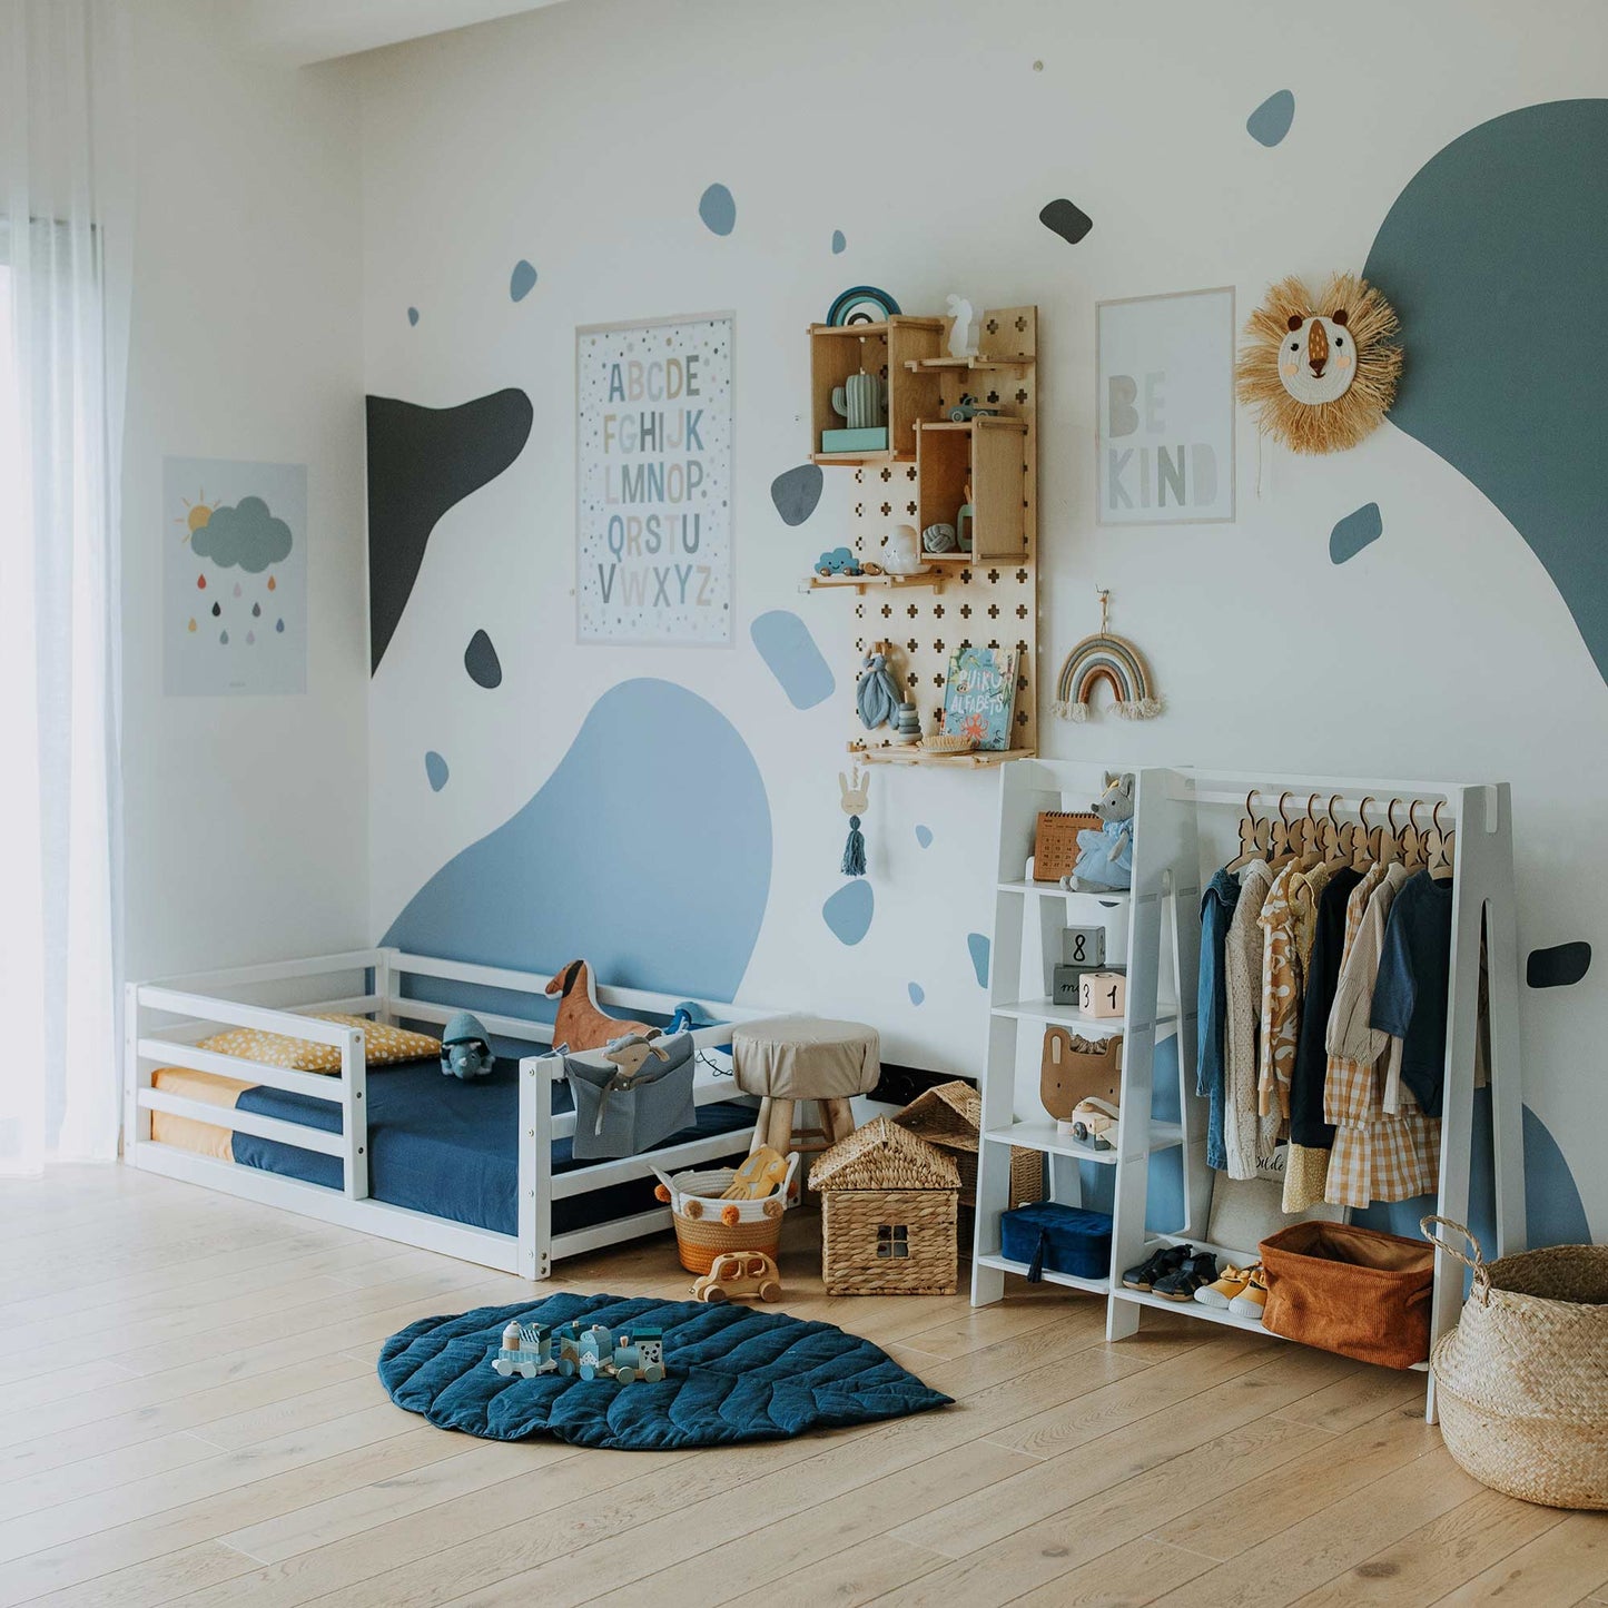
MULTIPOLYGON (((984 997, 963 934, 991 917, 991 780, 878 773, 872 933, 844 949, 818 913, 841 881, 852 626, 844 600, 794 587, 844 539, 849 478, 828 471, 798 531, 767 487, 809 450, 804 325, 870 281, 910 312, 952 289, 1040 309, 1040 685, 1093 629, 1100 584, 1167 698, 1166 717, 1142 725, 1060 727, 1040 709, 1048 753, 1510 778, 1523 949, 1584 937, 1608 954, 1608 688, 1529 548, 1468 481, 1391 426, 1304 461, 1259 447, 1241 415, 1233 526, 1098 529, 1090 486, 1097 299, 1232 283, 1243 314, 1286 272, 1360 269, 1430 156, 1502 111, 1602 93, 1605 59, 1608 13, 1582 0, 1523 23, 1502 0, 1359 0, 1322 21, 1256 0, 598 0, 370 58, 367 386, 447 405, 518 384, 535 407, 513 470, 437 527, 394 648, 410 629, 466 640, 486 624, 544 650, 540 674, 511 675, 495 709, 425 656, 381 666, 371 928, 524 804, 603 690, 662 675, 719 706, 765 775, 775 876, 745 995, 865 1016, 891 1056, 976 1071, 984 997), (1294 129, 1267 151, 1245 119, 1285 87, 1294 129), (724 240, 696 215, 714 180, 738 207, 724 240), (1076 248, 1037 222, 1061 195, 1095 222, 1076 248), (513 306, 518 257, 540 281, 513 306), (738 645, 577 650, 574 326, 717 307, 738 318, 738 645), (1328 532, 1365 502, 1386 534, 1336 568, 1328 532), (780 698, 746 634, 767 608, 812 622, 835 704, 794 714, 780 698), (1497 638, 1518 653, 1492 651, 1497 638), (441 794, 425 785, 421 725, 458 733, 441 794), (915 822, 936 833, 926 855, 915 822), (925 979, 921 1008, 907 978, 925 979)), ((1410 325, 1405 339, 1410 362, 1410 325)), ((1582 984, 1524 1000, 1526 1100, 1598 1233, 1603 989, 1598 962, 1582 984)))

